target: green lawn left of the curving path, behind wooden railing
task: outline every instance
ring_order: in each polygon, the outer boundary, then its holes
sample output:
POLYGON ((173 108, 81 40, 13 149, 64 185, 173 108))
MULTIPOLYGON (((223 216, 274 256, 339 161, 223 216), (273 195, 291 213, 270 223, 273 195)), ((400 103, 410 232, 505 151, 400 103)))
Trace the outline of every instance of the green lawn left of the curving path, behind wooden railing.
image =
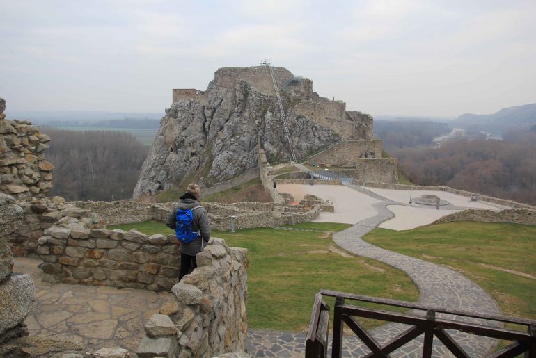
MULTIPOLYGON (((405 301, 418 299, 418 289, 404 272, 379 261, 349 255, 331 241, 332 232, 349 225, 308 222, 296 227, 315 232, 260 228, 234 234, 212 233, 212 236, 224 238, 230 246, 249 250, 249 327, 307 329, 314 296, 320 289, 405 301)), ((160 222, 110 225, 109 228, 173 234, 160 222)), ((328 303, 333 307, 332 301, 328 303)), ((364 323, 368 327, 381 324, 364 323)))

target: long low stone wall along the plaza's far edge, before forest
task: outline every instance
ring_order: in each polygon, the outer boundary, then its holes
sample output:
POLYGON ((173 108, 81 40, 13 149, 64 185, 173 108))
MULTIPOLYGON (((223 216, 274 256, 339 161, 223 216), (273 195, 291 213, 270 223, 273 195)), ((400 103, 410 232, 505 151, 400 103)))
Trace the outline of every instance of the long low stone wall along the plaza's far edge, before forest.
POLYGON ((521 202, 514 202, 513 200, 500 199, 498 197, 490 197, 487 195, 481 195, 479 193, 458 190, 455 188, 450 188, 450 186, 426 186, 426 185, 406 185, 406 184, 389 184, 389 183, 379 183, 377 181, 358 181, 355 184, 361 186, 369 186, 370 188, 381 188, 381 189, 397 189, 397 190, 439 190, 446 191, 448 193, 462 195, 464 197, 473 197, 475 196, 477 200, 482 200, 484 202, 491 202, 493 204, 499 204, 503 206, 509 206, 511 208, 519 209, 530 209, 536 210, 536 206, 523 204, 521 202))

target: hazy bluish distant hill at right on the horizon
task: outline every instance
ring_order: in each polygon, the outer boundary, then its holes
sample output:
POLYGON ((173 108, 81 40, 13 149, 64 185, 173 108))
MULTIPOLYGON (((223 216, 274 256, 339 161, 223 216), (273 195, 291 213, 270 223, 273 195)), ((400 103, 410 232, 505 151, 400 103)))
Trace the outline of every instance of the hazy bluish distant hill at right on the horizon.
POLYGON ((494 134, 502 134, 510 129, 530 130, 536 124, 536 103, 503 108, 491 115, 465 113, 450 124, 467 131, 488 131, 494 134))

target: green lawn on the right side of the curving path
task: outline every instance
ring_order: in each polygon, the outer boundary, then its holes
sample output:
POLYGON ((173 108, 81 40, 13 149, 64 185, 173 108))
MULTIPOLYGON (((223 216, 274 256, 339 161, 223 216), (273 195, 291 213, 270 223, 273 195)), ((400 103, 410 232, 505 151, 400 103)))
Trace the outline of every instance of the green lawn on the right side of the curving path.
POLYGON ((364 240, 449 266, 484 288, 504 314, 536 319, 536 227, 450 222, 407 231, 374 229, 364 240))

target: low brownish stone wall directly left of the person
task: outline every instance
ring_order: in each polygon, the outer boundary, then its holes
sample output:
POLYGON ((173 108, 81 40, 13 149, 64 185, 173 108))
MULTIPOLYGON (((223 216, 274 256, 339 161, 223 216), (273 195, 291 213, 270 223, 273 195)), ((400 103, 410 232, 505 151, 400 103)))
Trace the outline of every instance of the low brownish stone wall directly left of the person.
POLYGON ((90 227, 80 216, 65 216, 44 231, 38 240, 43 280, 151 291, 168 291, 178 282, 175 235, 90 227))

